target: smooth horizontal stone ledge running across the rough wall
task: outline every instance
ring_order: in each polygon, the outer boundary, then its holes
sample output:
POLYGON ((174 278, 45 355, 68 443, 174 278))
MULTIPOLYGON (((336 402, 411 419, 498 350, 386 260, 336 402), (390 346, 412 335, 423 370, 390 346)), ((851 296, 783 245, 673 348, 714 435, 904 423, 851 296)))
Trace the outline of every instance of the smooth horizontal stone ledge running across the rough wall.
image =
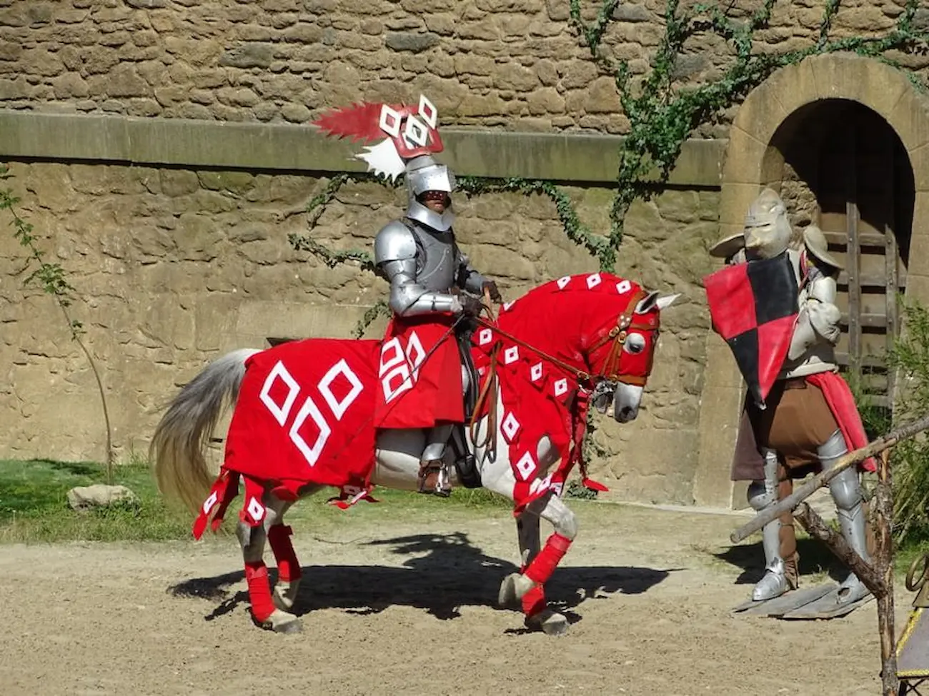
MULTIPOLYGON (((613 182, 618 135, 447 128, 446 161, 459 175, 613 182)), ((363 172, 359 143, 314 126, 0 110, 0 158, 114 161, 190 168, 363 172)), ((725 140, 688 140, 669 183, 720 186, 725 140)))

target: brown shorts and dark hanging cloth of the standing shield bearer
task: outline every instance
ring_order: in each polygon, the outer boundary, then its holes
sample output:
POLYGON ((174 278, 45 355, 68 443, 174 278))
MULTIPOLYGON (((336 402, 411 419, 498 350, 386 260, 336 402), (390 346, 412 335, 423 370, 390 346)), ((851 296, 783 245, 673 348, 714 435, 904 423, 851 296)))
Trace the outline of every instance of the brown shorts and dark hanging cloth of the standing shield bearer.
POLYGON ((733 481, 763 479, 764 459, 758 447, 777 450, 791 478, 818 470, 817 449, 839 425, 826 397, 802 377, 778 380, 760 410, 746 397, 732 461, 733 481))

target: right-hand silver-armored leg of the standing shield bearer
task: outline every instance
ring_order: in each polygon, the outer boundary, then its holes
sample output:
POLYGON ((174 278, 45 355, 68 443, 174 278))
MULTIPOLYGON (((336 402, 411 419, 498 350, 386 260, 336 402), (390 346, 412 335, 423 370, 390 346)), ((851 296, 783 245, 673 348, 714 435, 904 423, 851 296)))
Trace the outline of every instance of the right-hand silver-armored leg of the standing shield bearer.
MULTIPOLYGON (((841 458, 848 448, 841 431, 831 434, 825 444, 817 450, 819 461, 823 470, 829 470, 841 458)), ((866 520, 864 497, 861 495, 861 484, 858 481, 858 472, 855 468, 846 469, 829 482, 829 492, 835 501, 835 510, 838 513, 839 529, 845 542, 851 547, 862 561, 870 563, 868 550, 868 523, 866 520)), ((848 604, 867 597, 870 590, 862 583, 858 576, 849 573, 848 577, 839 586, 839 604, 848 604)))

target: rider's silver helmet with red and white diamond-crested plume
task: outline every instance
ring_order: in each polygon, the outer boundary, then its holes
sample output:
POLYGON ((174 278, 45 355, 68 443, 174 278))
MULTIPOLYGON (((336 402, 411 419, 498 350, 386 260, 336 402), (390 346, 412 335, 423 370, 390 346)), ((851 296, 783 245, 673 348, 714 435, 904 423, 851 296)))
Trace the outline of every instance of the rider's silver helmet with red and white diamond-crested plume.
POLYGON ((329 110, 314 125, 326 135, 350 137, 372 143, 365 151, 355 155, 368 163, 368 171, 396 181, 406 176, 409 203, 407 215, 440 232, 451 227, 454 213, 451 200, 444 213, 436 213, 419 200, 425 191, 442 191, 450 194, 455 189, 455 176, 444 164, 433 157, 441 152, 442 139, 438 135, 438 110, 423 95, 415 108, 402 104, 360 102, 343 109, 329 110))

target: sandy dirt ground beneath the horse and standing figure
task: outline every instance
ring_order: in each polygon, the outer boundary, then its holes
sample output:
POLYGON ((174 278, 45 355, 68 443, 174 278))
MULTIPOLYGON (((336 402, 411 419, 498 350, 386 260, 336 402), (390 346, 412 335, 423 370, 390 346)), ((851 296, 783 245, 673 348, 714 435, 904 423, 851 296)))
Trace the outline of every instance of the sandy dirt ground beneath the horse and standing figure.
MULTIPOLYGON (((873 601, 831 621, 730 614, 763 565, 757 542, 729 548, 747 518, 570 504, 581 533, 548 587, 574 622, 562 638, 493 606, 517 561, 505 509, 294 522, 294 636, 249 620, 230 538, 2 547, 0 692, 880 693, 873 601)), ((911 599, 898 587, 897 634, 911 599)))

